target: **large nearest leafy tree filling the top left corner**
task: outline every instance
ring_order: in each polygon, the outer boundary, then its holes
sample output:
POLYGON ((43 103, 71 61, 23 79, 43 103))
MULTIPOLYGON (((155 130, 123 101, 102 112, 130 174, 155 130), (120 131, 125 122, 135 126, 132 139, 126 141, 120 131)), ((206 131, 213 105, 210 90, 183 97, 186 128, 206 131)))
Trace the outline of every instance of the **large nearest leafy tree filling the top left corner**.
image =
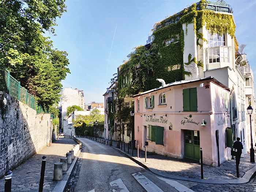
POLYGON ((65 0, 3 0, 0 2, 0 62, 27 88, 41 70, 37 61, 48 54, 56 18, 66 11, 65 0))

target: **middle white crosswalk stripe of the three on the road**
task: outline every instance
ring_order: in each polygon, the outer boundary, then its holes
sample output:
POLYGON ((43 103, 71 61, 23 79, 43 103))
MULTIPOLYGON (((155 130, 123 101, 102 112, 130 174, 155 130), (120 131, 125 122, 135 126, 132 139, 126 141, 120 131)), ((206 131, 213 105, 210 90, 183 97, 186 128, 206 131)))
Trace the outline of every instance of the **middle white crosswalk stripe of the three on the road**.
POLYGON ((145 177, 140 172, 132 174, 132 176, 139 182, 147 192, 163 192, 157 185, 155 185, 152 181, 150 181, 147 177, 145 177))

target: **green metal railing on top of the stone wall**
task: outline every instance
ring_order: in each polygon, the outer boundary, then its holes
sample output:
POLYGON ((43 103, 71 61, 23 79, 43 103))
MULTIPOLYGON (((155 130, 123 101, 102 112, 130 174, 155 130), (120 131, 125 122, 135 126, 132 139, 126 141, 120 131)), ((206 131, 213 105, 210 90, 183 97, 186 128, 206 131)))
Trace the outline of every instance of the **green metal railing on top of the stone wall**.
POLYGON ((42 107, 39 106, 35 101, 35 97, 27 93, 27 89, 20 86, 20 82, 10 75, 10 71, 8 71, 5 67, 1 67, 0 70, 2 72, 1 74, 4 76, 4 83, 6 84, 7 90, 9 91, 9 95, 11 97, 14 97, 15 99, 25 103, 30 108, 36 110, 37 114, 44 111, 42 107))

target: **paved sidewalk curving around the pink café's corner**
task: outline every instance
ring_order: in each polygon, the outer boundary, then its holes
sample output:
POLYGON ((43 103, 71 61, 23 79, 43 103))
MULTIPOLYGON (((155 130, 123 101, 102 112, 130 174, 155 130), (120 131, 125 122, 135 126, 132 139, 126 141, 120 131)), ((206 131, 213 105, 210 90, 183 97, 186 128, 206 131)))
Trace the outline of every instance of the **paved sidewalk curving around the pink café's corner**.
MULTIPOLYGON (((112 141, 113 148, 116 148, 116 144, 117 142, 112 141)), ((145 163, 145 151, 139 150, 138 158, 137 149, 133 150, 132 156, 131 148, 129 148, 128 154, 127 143, 125 144, 125 151, 124 143, 122 144, 122 149, 120 144, 120 149, 116 148, 116 150, 159 176, 184 181, 211 184, 242 184, 248 182, 256 173, 256 163, 250 162, 249 154, 245 154, 244 157, 241 157, 239 178, 237 178, 236 161, 235 159, 231 159, 222 163, 219 167, 203 165, 204 179, 201 179, 201 165, 199 163, 183 159, 172 159, 149 152, 147 152, 147 162, 145 163)))

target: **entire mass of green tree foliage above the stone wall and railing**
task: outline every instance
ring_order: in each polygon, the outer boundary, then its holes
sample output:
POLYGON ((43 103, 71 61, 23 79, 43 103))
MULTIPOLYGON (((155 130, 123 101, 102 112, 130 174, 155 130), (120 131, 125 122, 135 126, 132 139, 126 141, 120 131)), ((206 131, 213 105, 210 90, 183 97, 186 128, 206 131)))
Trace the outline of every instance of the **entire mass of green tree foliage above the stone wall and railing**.
POLYGON ((52 41, 42 35, 54 34, 56 18, 66 11, 64 1, 0 3, 0 63, 45 110, 59 101, 60 81, 69 73, 67 53, 52 50, 52 41))

